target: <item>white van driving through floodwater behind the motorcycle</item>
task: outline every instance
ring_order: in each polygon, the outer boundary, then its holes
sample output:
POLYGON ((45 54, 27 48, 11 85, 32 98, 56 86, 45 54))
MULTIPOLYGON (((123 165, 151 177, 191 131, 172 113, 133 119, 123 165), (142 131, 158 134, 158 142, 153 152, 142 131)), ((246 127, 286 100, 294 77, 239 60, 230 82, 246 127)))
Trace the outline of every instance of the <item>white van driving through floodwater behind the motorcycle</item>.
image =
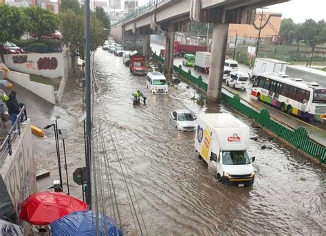
POLYGON ((160 72, 147 73, 146 85, 153 94, 167 94, 169 91, 168 81, 160 72))

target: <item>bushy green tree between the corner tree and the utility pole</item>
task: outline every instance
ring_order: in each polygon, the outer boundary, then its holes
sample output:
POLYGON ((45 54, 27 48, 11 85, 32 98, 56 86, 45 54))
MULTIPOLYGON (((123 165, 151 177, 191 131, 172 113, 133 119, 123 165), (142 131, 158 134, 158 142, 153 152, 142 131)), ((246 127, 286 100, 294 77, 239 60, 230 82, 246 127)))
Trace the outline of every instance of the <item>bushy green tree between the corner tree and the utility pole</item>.
POLYGON ((58 29, 58 16, 50 10, 37 6, 25 8, 24 12, 29 19, 28 32, 39 40, 41 36, 50 36, 58 29))

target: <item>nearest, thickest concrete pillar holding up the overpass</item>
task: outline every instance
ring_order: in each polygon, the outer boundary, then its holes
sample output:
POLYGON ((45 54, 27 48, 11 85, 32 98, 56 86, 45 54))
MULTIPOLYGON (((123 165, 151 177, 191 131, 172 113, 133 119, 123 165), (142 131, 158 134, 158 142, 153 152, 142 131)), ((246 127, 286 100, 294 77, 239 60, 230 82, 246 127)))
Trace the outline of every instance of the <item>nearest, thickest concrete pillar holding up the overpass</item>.
POLYGON ((208 76, 208 102, 217 103, 221 100, 224 61, 228 42, 228 23, 215 24, 213 28, 210 72, 208 76))

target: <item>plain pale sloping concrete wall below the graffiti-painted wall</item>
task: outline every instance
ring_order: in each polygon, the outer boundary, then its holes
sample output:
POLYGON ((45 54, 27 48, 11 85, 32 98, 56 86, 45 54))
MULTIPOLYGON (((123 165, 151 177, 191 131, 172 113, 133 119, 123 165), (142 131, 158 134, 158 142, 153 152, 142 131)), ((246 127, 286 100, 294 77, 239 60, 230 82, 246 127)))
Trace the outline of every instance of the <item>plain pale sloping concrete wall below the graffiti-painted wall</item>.
MULTIPOLYGON (((52 104, 56 104, 56 97, 54 95, 54 87, 52 85, 45 85, 43 83, 37 83, 34 81, 30 81, 30 75, 29 74, 23 74, 19 72, 7 72, 6 76, 10 79, 10 81, 13 81, 14 83, 17 83, 21 85, 22 87, 25 87, 25 89, 30 90, 34 94, 40 96, 41 98, 47 100, 48 102, 52 104)), ((62 81, 61 81, 62 83, 62 81)))

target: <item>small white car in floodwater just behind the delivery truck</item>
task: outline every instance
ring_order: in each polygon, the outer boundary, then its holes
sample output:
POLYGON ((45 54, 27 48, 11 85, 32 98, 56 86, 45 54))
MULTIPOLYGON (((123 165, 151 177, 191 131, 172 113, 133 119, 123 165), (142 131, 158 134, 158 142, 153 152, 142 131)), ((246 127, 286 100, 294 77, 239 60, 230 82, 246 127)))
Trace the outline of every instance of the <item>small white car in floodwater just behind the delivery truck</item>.
POLYGON ((188 110, 175 110, 171 112, 170 122, 177 131, 195 131, 196 118, 188 110))

